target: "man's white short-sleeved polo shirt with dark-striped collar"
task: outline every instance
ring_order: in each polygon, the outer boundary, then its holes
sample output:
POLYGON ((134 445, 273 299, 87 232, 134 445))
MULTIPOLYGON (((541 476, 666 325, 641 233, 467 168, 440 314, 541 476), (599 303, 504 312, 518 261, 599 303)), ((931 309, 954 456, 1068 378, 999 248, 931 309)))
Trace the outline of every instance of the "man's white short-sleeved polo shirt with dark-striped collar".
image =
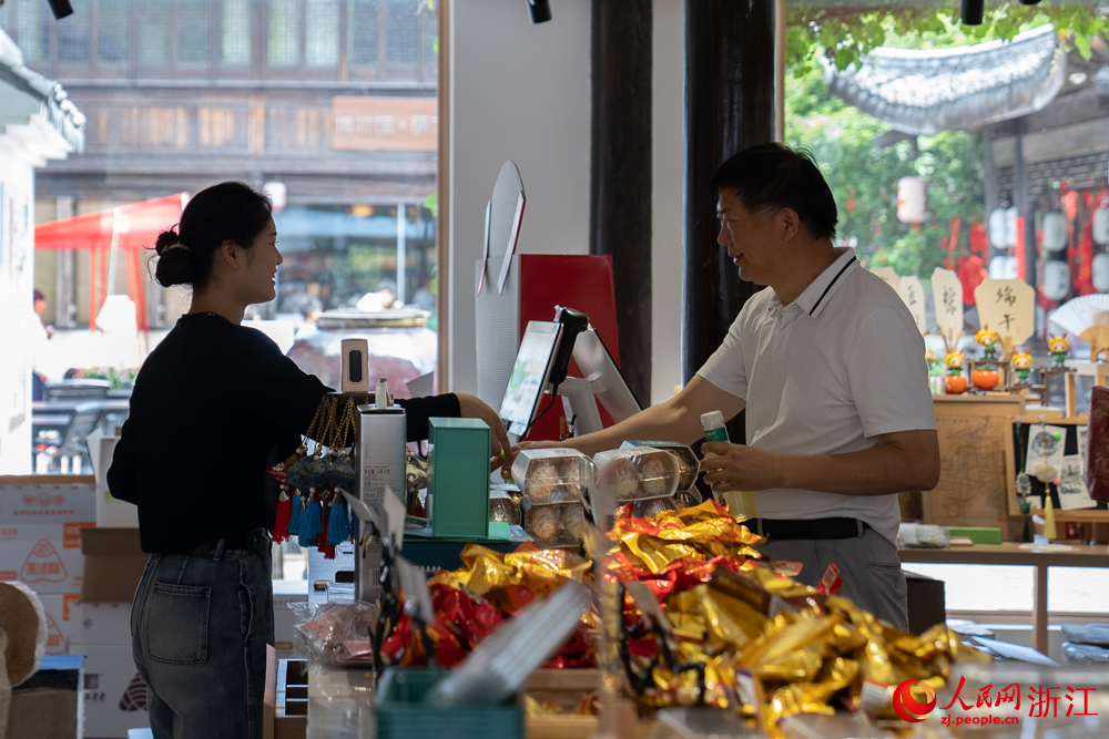
MULTIPOLYGON (((746 401, 750 445, 843 454, 936 428, 924 349, 897 294, 843 249, 788 306, 772 288, 747 300, 698 374, 746 401)), ((897 541, 897 495, 773 489, 755 504, 765 519, 861 519, 897 541)))

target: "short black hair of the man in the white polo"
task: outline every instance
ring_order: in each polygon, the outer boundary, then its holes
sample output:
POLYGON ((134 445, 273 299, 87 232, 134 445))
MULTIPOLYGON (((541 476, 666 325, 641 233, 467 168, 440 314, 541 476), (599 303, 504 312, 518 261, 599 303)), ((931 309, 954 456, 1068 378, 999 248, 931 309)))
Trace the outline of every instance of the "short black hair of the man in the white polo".
POLYGON ((832 189, 804 148, 762 144, 744 148, 720 165, 713 193, 734 189, 751 213, 770 215, 793 208, 814 238, 835 238, 838 213, 832 189))

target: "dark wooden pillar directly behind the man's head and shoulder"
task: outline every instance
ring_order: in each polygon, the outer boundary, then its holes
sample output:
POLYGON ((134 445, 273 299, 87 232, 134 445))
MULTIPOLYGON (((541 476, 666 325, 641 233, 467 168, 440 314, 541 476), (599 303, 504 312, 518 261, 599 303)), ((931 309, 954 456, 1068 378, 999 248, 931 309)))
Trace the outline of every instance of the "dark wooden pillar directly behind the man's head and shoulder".
MULTIPOLYGON (((682 381, 720 346, 755 286, 716 244, 709 179, 729 156, 774 137, 774 3, 685 0, 685 224, 682 381)), ((729 425, 733 441, 743 427, 729 425)))

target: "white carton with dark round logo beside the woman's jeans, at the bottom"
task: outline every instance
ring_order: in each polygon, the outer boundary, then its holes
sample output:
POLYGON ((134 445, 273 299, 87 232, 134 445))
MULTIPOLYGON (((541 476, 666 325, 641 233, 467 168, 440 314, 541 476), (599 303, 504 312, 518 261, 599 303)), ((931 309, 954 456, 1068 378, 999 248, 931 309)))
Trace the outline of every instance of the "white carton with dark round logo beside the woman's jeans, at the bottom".
POLYGON ((84 645, 80 649, 85 656, 85 739, 126 739, 128 729, 149 727, 146 685, 135 669, 130 639, 126 644, 84 645))

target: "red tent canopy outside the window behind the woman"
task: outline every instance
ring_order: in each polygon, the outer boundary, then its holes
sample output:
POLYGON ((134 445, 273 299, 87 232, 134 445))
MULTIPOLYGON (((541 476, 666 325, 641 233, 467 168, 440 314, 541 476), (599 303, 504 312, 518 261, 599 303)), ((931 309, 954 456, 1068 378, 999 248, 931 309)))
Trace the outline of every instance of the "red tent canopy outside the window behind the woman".
POLYGON ((34 227, 35 249, 153 248, 157 235, 181 220, 187 193, 51 220, 34 227))

